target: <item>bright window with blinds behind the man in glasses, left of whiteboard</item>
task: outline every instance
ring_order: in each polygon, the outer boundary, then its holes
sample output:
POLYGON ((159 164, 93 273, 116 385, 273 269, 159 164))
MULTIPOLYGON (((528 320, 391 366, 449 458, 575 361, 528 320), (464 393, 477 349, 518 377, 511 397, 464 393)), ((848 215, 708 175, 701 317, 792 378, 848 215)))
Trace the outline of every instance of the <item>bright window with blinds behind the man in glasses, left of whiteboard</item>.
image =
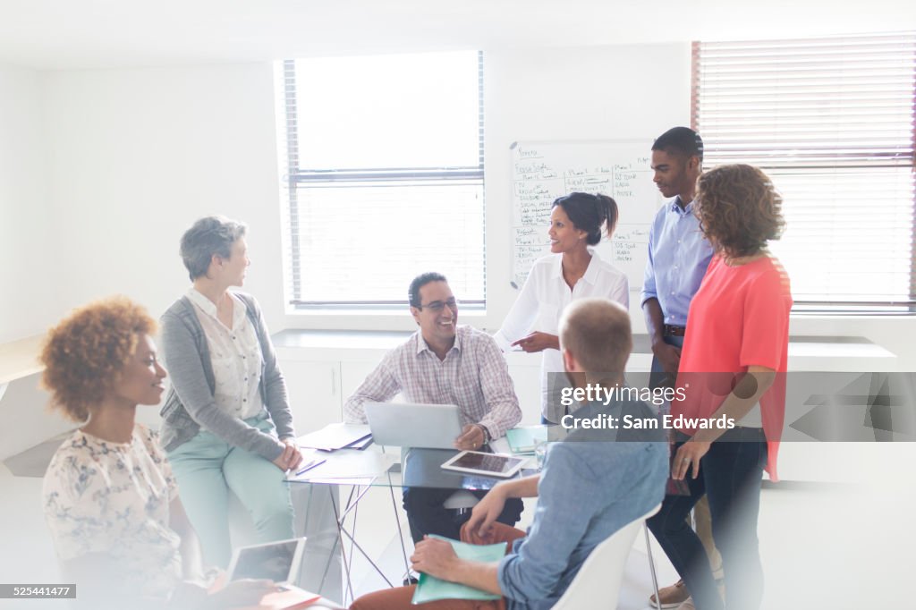
POLYGON ((485 305, 483 58, 286 60, 287 289, 298 308, 407 304, 424 271, 485 305))

